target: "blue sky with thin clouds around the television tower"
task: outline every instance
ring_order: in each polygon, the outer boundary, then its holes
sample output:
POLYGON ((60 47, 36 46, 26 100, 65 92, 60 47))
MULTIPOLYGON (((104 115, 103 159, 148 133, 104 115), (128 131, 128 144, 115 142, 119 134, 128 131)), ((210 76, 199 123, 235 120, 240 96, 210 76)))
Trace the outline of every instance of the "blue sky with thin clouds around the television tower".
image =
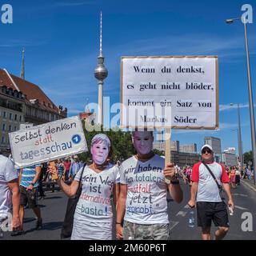
POLYGON ((218 55, 220 129, 173 130, 172 139, 202 146, 205 136, 222 139, 222 150, 237 144, 238 116, 230 102, 241 104, 243 150, 251 149, 243 4, 254 9, 247 24, 254 99, 256 100, 256 2, 200 0, 58 0, 5 1, 14 9, 14 23, 0 23, 0 67, 19 75, 26 48, 26 79, 42 87, 69 115, 98 101, 99 14, 103 15, 103 55, 109 75, 104 96, 119 102, 120 58, 124 55, 218 55))

